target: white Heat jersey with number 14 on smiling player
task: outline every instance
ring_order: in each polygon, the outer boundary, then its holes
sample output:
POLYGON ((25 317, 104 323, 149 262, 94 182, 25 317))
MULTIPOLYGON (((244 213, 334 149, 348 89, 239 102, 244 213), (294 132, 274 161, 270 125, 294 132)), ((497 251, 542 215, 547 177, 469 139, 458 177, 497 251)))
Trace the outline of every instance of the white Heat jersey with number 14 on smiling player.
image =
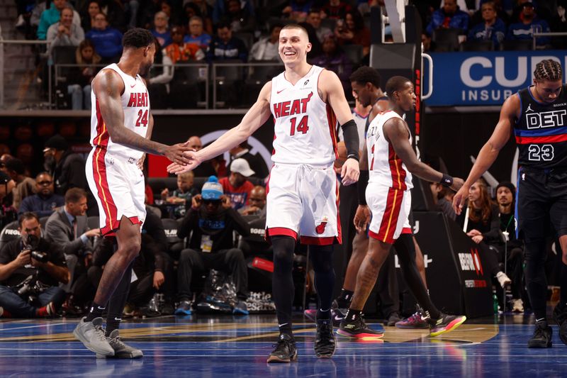
POLYGON ((296 85, 284 72, 271 80, 274 163, 330 166, 337 158, 337 118, 318 92, 322 67, 312 66, 296 85))

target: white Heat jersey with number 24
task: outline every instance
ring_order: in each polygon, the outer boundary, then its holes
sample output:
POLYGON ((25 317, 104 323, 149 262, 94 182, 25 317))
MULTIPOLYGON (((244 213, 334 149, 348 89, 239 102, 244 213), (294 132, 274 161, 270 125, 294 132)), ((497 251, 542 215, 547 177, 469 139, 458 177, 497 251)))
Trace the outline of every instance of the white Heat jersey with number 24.
MULTIPOLYGON (((120 96, 122 109, 124 111, 124 126, 134 133, 146 137, 147 124, 150 122, 150 96, 140 75, 131 77, 120 70, 118 65, 112 64, 103 70, 113 70, 118 72, 124 82, 124 93, 120 96)), ((128 148, 125 145, 113 143, 108 129, 102 119, 99 100, 96 99, 94 91, 91 89, 91 145, 93 147, 106 148, 107 152, 118 154, 124 157, 139 159, 142 151, 128 148)))

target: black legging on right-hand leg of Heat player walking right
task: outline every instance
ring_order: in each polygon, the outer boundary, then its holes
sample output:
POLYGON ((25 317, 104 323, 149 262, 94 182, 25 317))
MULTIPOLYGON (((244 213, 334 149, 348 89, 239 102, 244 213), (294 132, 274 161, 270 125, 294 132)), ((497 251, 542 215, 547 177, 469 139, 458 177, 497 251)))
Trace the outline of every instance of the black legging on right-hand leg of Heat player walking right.
POLYGON ((417 303, 425 311, 429 312, 433 319, 438 319, 441 313, 432 303, 430 296, 427 295, 427 289, 425 289, 420 272, 417 270, 417 265, 415 265, 415 245, 413 244, 412 235, 400 235, 394 243, 394 248, 398 252, 400 268, 402 269, 405 282, 408 283, 408 287, 410 287, 412 294, 417 299, 417 303))

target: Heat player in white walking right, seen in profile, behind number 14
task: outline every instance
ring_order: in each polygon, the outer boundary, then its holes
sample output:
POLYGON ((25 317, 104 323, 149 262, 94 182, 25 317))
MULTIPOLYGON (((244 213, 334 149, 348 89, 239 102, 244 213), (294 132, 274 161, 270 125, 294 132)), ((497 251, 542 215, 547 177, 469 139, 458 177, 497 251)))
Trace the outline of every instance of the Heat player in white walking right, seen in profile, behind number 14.
MULTIPOLYGON (((371 211, 369 228, 369 250, 357 274, 352 303, 347 316, 341 322, 340 335, 351 338, 381 338, 383 333, 364 323, 362 308, 376 283, 378 272, 388 257, 391 245, 396 243, 405 280, 424 308, 424 318, 430 323, 430 335, 437 336, 460 326, 465 316, 450 316, 441 313, 427 295, 427 290, 415 265, 415 245, 408 215, 411 209, 412 174, 431 182, 441 182, 458 190, 463 180, 437 172, 417 160, 412 149, 411 133, 402 118, 403 113, 415 106, 413 84, 405 77, 395 76, 386 83, 390 99, 389 110, 376 114, 366 132, 363 159, 368 156, 368 170, 361 171, 359 193, 366 197, 371 211), (366 187, 368 185, 368 187, 366 187)), ((366 163, 361 163, 365 168, 366 163)), ((366 228, 367 218, 361 216, 364 206, 359 206, 355 224, 357 229, 366 228)))

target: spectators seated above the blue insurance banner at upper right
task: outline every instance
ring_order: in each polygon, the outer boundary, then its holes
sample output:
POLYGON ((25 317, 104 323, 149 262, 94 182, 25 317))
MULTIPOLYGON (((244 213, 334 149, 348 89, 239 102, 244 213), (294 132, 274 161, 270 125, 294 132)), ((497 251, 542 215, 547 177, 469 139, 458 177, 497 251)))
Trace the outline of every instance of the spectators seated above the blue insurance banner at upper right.
MULTIPOLYGON (((416 5, 421 11, 424 25, 422 41, 426 50, 451 51, 465 41, 469 50, 531 50, 534 33, 567 30, 567 1, 564 0, 443 0, 420 3, 416 5), (457 45, 453 43, 447 47, 448 38, 458 38, 457 45)), ((537 37, 536 48, 564 48, 565 39, 537 37)))

